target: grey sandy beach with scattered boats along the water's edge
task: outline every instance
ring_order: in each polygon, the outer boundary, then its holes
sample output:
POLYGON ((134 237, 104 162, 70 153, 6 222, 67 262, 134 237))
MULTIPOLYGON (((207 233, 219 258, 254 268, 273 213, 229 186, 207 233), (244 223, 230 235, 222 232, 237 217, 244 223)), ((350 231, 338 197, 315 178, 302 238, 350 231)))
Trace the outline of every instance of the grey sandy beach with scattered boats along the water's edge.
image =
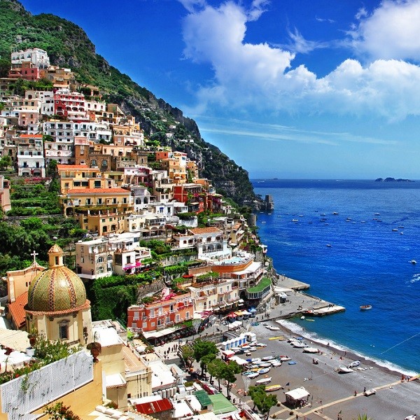
MULTIPOLYGON (((322 343, 304 338, 311 347, 316 347, 320 354, 303 353, 302 349, 293 348, 287 338, 295 337, 287 328, 270 331, 262 325, 252 326, 259 342, 267 344, 264 349, 252 352, 251 357, 271 355, 288 355, 296 362, 289 365, 287 362, 280 367, 272 367, 268 373, 272 377, 271 384, 281 384, 283 391, 276 391, 280 402, 285 402, 283 392, 300 386, 309 391, 309 404, 299 409, 290 410, 286 407, 273 407, 270 414, 275 414, 277 419, 332 419, 336 420, 341 412, 343 420, 356 419, 358 414, 367 414, 374 420, 403 420, 410 414, 419 410, 420 382, 402 382, 400 372, 395 372, 375 364, 372 360, 363 360, 360 356, 346 351, 339 351, 322 343), (285 340, 269 340, 269 337, 283 335, 285 340), (318 358, 318 365, 312 363, 313 358, 318 358), (334 371, 339 365, 349 365, 353 360, 360 360, 360 368, 354 372, 339 374, 334 371), (286 386, 288 384, 288 386, 286 386), (363 389, 375 388, 377 393, 366 397, 363 389), (354 395, 356 391, 356 396, 354 395), (292 412, 290 414, 290 412, 292 412)), ((279 326, 281 321, 267 321, 271 325, 279 326)), ((241 358, 247 356, 241 355, 241 358)), ((255 384, 258 377, 251 381, 255 384)), ((237 380, 236 389, 243 388, 241 377, 237 380)), ((240 394, 239 394, 240 395, 240 394)), ((252 407, 252 401, 247 399, 252 407)))

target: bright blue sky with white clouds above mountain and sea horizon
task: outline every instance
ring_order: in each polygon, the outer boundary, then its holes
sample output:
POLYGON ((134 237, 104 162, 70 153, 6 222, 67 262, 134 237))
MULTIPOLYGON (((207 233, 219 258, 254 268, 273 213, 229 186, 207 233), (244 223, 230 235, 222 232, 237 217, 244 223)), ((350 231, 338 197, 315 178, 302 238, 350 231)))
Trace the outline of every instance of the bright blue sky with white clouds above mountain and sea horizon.
POLYGON ((420 179, 420 0, 22 0, 251 179, 420 179))

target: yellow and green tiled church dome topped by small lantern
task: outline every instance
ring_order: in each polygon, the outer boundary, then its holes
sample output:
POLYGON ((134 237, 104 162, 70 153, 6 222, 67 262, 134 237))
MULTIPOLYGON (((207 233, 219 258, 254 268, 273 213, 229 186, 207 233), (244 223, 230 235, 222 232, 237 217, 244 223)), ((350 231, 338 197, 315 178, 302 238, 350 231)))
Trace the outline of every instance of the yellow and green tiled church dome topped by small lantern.
POLYGON ((80 277, 63 265, 63 251, 54 245, 48 251, 50 268, 39 273, 29 286, 29 311, 72 311, 85 305, 86 289, 80 277))

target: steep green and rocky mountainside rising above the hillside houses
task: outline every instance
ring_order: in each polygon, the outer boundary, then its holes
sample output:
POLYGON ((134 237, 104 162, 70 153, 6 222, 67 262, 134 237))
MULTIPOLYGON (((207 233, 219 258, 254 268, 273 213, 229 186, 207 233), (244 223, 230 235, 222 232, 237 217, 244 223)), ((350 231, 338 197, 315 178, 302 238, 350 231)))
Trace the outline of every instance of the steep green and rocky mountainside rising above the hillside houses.
POLYGON ((83 29, 55 15, 31 15, 16 0, 0 0, 0 33, 1 76, 6 76, 4 71, 10 64, 10 48, 46 50, 52 64, 71 68, 79 83, 96 85, 105 99, 135 116, 151 139, 186 151, 197 161, 200 175, 211 179, 221 193, 239 204, 258 206, 248 172, 204 141, 195 121, 183 116, 180 109, 157 99, 97 55, 83 29), (177 127, 174 137, 167 139, 169 125, 174 124, 177 127), (181 139, 191 141, 186 143, 181 139))

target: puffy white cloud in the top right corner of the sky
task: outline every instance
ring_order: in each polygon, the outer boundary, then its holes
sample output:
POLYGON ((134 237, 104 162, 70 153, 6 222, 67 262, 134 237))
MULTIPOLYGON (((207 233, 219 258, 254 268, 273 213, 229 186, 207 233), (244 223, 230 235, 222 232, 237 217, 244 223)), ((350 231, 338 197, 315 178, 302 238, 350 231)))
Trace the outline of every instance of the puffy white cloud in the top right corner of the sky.
POLYGON ((371 15, 359 10, 353 47, 370 59, 420 62, 420 0, 385 0, 371 15))

